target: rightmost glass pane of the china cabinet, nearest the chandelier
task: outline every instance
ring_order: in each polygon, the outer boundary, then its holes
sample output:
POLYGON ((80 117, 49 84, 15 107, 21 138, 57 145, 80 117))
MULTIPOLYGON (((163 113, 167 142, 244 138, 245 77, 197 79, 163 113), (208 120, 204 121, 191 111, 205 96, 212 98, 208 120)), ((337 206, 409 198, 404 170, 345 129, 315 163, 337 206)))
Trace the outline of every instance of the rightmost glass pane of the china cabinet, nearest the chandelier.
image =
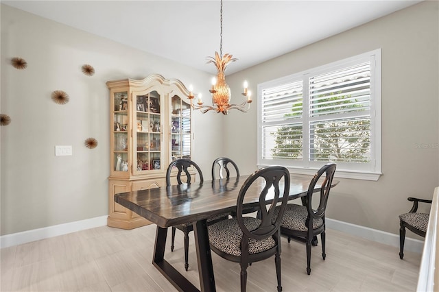
POLYGON ((191 106, 174 95, 171 107, 171 160, 191 159, 191 106))

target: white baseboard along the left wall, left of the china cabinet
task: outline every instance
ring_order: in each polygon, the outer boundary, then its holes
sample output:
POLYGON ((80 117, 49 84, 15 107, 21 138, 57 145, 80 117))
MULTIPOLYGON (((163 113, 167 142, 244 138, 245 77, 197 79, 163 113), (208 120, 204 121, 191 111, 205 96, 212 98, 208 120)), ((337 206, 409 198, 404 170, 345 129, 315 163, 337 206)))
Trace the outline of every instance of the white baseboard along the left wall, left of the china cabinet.
POLYGON ((2 235, 0 236, 0 247, 10 247, 12 245, 29 243, 31 241, 38 241, 40 239, 47 239, 49 237, 105 226, 107 224, 107 217, 108 215, 105 215, 91 219, 48 226, 45 228, 2 235))

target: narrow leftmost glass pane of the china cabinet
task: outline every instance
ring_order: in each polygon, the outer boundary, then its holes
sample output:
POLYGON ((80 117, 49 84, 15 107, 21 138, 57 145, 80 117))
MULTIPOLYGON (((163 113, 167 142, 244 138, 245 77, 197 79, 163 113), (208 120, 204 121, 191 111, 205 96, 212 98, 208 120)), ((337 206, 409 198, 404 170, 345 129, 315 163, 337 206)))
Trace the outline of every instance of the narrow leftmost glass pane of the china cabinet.
POLYGON ((113 94, 113 145, 114 171, 128 171, 128 92, 113 94))

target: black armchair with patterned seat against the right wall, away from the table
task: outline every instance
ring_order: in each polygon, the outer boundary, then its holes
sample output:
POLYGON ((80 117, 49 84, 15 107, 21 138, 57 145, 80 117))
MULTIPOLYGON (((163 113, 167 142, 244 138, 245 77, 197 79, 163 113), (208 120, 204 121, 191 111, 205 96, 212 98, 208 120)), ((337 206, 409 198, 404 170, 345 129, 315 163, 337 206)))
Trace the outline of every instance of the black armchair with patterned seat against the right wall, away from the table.
POLYGON ((399 258, 401 260, 404 257, 404 241, 405 241, 405 228, 408 230, 425 237, 427 232, 429 214, 423 212, 416 212, 418 210, 418 204, 427 203, 431 204, 431 199, 418 199, 416 197, 408 197, 407 200, 413 202, 412 209, 409 212, 399 215, 399 258))

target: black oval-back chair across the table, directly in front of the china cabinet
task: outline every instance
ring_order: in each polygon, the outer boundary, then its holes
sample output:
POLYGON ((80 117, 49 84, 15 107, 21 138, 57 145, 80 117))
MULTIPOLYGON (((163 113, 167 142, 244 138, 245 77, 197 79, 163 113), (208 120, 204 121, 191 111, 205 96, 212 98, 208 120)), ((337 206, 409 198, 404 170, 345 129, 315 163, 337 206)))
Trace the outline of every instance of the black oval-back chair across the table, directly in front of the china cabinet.
MULTIPOLYGON (((171 186, 171 172, 172 172, 172 169, 174 169, 174 167, 176 167, 176 169, 178 169, 178 173, 176 175, 176 179, 177 179, 178 184, 184 184, 184 183, 191 184, 191 182, 193 182, 192 177, 191 177, 191 173, 189 172, 189 167, 193 167, 195 169, 195 171, 198 172, 199 183, 202 184, 204 182, 203 173, 202 173, 200 167, 198 167, 198 165, 195 162, 193 162, 192 160, 189 160, 189 159, 177 159, 177 160, 174 160, 173 162, 171 162, 171 164, 169 164, 169 167, 167 168, 166 186, 171 186), (186 182, 182 181, 182 175, 185 175, 186 182)), ((217 221, 224 220, 227 218, 228 218, 228 214, 219 214, 219 215, 215 215, 215 216, 207 219, 207 223, 212 224, 212 223, 215 223, 217 221)), ((189 232, 193 231, 193 225, 191 222, 188 222, 188 223, 183 223, 183 224, 180 224, 177 226, 172 226, 171 252, 174 252, 174 241, 175 241, 175 237, 176 237, 176 229, 181 230, 183 232, 183 234, 185 234, 183 241, 185 244, 185 269, 187 271, 187 269, 189 269, 189 232)))

